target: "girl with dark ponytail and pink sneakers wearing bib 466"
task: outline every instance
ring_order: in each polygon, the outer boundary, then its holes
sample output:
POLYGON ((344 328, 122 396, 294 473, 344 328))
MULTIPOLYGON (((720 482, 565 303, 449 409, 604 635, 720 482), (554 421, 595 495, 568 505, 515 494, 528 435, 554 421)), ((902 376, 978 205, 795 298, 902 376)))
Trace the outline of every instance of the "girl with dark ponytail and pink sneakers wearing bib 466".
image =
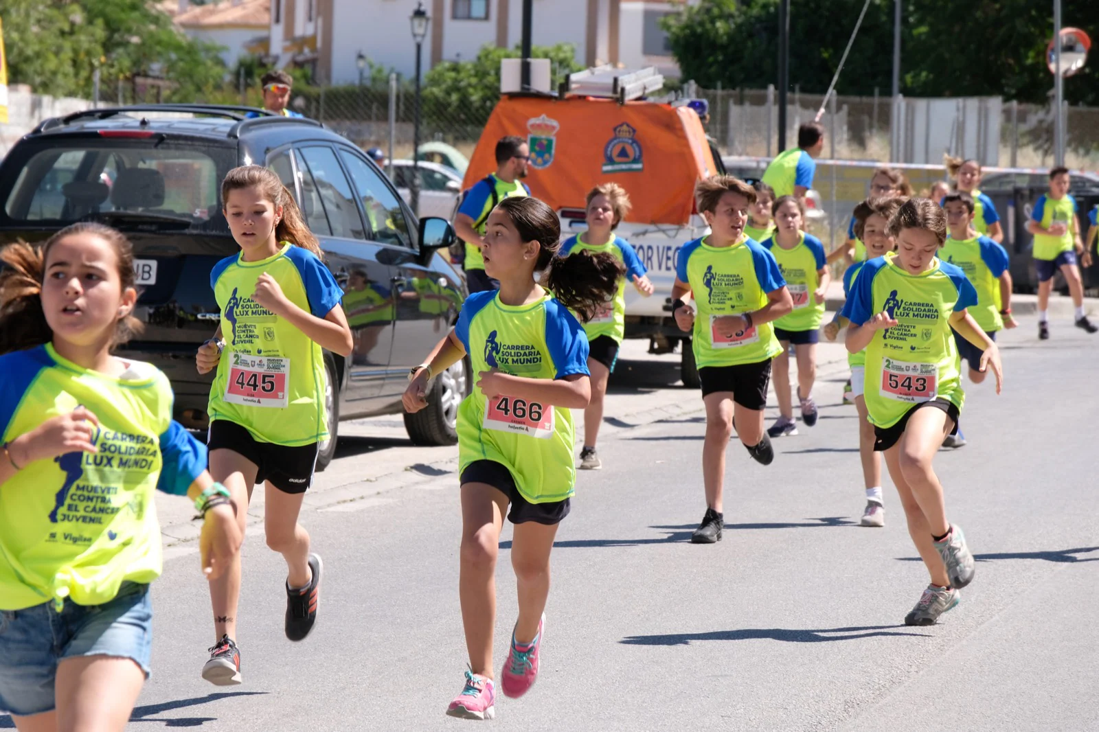
POLYGON ((610 253, 557 256, 557 214, 535 198, 507 198, 488 217, 481 254, 499 291, 466 299, 457 325, 410 375, 404 409, 428 406, 435 374, 468 357, 477 387, 458 409, 462 548, 458 594, 469 670, 451 717, 496 714, 492 628, 503 518, 514 524, 511 566, 519 618, 503 663, 504 696, 537 678, 550 594, 550 552, 576 481, 570 409, 591 396, 588 339, 571 312, 590 319, 615 297, 622 265, 610 253), (542 273, 540 285, 535 273, 542 273), (509 512, 508 507, 511 506, 509 512))

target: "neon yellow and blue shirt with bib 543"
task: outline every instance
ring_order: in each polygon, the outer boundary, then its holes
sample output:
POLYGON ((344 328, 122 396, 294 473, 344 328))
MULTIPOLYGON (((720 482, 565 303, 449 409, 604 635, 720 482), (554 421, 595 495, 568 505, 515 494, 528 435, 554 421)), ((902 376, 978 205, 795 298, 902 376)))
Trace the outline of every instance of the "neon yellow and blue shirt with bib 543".
POLYGON ((935 258, 930 269, 911 275, 896 257, 890 252, 863 265, 841 313, 855 325, 879 312, 898 321, 875 332, 866 346, 866 410, 870 423, 880 428, 892 426, 912 407, 932 399, 962 409, 965 392, 950 318, 977 304, 977 292, 961 268, 935 258))

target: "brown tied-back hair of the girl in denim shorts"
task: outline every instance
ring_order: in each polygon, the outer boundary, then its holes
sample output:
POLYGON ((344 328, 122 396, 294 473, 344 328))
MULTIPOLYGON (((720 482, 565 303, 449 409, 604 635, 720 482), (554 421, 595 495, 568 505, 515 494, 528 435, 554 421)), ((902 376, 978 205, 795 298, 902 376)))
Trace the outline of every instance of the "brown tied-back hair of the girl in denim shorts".
MULTIPOLYGON (((90 234, 111 245, 119 260, 122 290, 134 287, 134 253, 130 240, 116 229, 101 223, 80 222, 62 229, 42 246, 26 242, 0 249, 0 353, 23 351, 48 343, 54 337, 42 310, 42 282, 49 249, 67 236, 90 234)), ((120 318, 111 337, 111 348, 141 333, 142 323, 133 315, 120 318)))

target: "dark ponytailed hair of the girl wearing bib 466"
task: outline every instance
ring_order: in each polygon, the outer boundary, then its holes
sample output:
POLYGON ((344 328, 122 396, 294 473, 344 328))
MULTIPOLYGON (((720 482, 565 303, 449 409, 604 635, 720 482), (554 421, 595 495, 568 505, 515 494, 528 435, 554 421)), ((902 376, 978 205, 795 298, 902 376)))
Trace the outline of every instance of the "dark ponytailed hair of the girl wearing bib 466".
POLYGON ((508 214, 523 242, 539 243, 535 271, 544 271, 542 284, 558 301, 588 322, 603 303, 618 293, 624 269, 611 254, 579 252, 559 257, 560 221, 536 198, 506 198, 497 208, 508 214))

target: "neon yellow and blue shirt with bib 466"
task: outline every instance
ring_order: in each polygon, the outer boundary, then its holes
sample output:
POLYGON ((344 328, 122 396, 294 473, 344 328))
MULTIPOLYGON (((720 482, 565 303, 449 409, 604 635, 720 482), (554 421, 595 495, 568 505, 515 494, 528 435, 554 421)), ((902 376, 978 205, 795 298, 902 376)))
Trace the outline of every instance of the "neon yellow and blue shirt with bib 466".
MULTIPOLYGON (((473 373, 497 369, 533 379, 588 375, 584 328, 550 293, 525 306, 500 302, 496 291, 470 295, 455 335, 473 373)), ((475 461, 507 467, 531 503, 563 501, 575 492, 573 413, 509 395, 488 399, 480 389, 458 408, 460 472, 475 461)))

